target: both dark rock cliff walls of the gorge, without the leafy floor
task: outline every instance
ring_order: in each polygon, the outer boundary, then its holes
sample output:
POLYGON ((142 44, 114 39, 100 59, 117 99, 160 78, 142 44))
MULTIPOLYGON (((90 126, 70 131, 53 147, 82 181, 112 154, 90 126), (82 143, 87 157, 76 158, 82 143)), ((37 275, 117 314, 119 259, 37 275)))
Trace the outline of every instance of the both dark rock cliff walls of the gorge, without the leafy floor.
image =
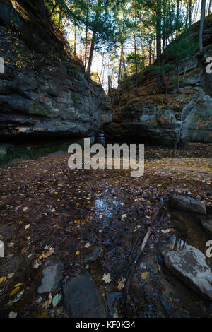
MULTIPOLYGON (((204 23, 201 59, 194 52, 179 63, 179 93, 170 83, 165 100, 155 91, 155 78, 144 75, 138 96, 133 85, 126 89, 121 84, 109 97, 86 75, 61 32, 32 4, 1 1, 1 142, 89 137, 104 129, 110 140, 157 140, 175 147, 189 141, 210 143, 212 83, 206 59, 212 54, 211 22, 209 16, 204 23)), ((192 25, 188 40, 198 39, 198 26, 192 25)))

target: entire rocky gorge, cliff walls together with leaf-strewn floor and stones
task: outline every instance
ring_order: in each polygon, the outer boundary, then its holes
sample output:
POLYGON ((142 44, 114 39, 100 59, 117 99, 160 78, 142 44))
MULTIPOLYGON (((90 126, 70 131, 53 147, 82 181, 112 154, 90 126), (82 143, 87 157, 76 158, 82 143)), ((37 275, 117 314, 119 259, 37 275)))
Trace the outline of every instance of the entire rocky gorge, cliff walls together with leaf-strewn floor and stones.
POLYGON ((138 95, 124 82, 106 95, 33 1, 0 6, 0 157, 28 151, 0 168, 0 317, 211 318, 211 18, 204 57, 182 59, 165 100, 149 73, 138 95), (155 143, 142 177, 72 170, 68 146, 35 155, 40 138, 100 130, 155 143))

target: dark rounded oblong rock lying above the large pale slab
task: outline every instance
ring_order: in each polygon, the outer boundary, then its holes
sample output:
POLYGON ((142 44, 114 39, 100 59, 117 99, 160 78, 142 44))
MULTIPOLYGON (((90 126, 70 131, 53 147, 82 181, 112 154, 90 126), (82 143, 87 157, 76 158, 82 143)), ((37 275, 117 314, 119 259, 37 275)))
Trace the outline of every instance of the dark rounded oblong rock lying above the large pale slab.
POLYGON ((191 197, 174 195, 170 198, 170 206, 179 210, 206 215, 206 207, 204 204, 191 197))

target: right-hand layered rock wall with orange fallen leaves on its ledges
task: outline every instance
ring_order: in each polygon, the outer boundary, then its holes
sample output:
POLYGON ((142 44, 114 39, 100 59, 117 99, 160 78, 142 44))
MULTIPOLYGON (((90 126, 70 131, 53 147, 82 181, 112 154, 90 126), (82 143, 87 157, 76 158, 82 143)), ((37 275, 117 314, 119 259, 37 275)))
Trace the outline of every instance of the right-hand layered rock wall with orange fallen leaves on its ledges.
MULTIPOLYGON (((192 26, 188 39, 198 45, 199 23, 192 26)), ((204 56, 198 52, 179 64, 179 94, 170 83, 168 102, 154 91, 152 78, 134 88, 112 93, 114 119, 107 134, 114 138, 139 138, 139 141, 177 146, 181 141, 212 143, 212 73, 206 72, 206 59, 212 56, 212 16, 204 23, 204 56), (152 81, 151 81, 152 80, 152 81)), ((166 59, 175 65, 173 59, 166 59)), ((176 72, 171 73, 176 79, 176 72)))

